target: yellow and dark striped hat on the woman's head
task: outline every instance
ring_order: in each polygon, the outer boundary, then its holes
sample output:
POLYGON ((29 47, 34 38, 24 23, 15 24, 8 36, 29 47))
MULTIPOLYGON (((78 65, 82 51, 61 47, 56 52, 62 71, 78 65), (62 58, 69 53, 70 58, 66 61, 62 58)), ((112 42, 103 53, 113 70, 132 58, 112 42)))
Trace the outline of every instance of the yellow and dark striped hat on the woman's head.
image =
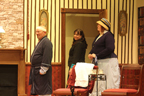
POLYGON ((102 18, 101 20, 97 21, 96 23, 100 24, 106 30, 110 30, 111 24, 106 18, 102 18))

